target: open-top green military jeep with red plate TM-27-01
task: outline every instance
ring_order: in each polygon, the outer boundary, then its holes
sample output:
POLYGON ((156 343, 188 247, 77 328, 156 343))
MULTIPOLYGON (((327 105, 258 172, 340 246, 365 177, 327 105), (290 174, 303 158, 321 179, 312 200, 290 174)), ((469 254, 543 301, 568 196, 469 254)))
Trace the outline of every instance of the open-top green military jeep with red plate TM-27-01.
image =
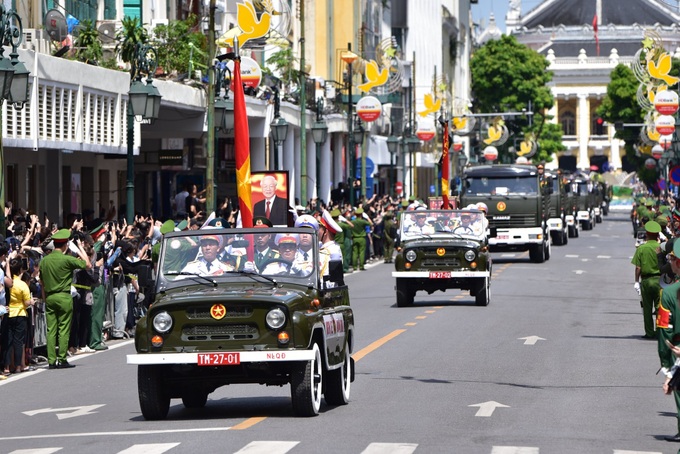
POLYGON ((349 401, 354 315, 342 263, 310 229, 202 229, 163 238, 155 294, 135 331, 139 404, 206 405, 223 385, 290 384, 294 413, 349 401), (310 244, 311 243, 311 244, 310 244), (308 258, 298 249, 311 246, 308 258))

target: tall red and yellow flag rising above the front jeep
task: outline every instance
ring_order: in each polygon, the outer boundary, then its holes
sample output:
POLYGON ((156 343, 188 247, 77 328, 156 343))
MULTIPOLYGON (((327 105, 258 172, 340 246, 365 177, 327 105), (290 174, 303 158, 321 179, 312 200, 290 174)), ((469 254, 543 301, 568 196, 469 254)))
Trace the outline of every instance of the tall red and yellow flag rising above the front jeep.
POLYGON ((253 204, 250 195, 250 132, 246 99, 241 82, 241 60, 234 61, 234 154, 236 157, 236 186, 243 227, 253 226, 253 204))

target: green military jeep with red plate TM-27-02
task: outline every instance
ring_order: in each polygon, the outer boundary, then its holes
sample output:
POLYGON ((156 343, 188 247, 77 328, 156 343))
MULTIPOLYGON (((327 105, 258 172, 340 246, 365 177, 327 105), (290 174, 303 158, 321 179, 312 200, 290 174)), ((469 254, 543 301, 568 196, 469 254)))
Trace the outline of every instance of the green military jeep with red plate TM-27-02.
POLYGON ((469 290, 475 304, 490 301, 488 221, 479 210, 405 211, 395 260, 397 306, 413 305, 418 290, 469 290))

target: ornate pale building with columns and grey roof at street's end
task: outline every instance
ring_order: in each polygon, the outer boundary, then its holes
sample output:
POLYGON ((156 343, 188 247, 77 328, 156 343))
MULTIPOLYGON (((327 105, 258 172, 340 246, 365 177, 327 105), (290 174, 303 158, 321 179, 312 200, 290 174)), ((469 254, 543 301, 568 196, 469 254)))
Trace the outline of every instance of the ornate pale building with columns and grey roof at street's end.
MULTIPOLYGON (((553 72, 555 105, 567 150, 550 166, 633 170, 613 125, 602 124, 602 103, 616 65, 630 65, 646 30, 661 37, 667 51, 680 52, 680 14, 660 0, 545 0, 521 13, 510 0, 506 32, 545 55, 553 72)), ((676 57, 677 58, 677 57, 676 57)))

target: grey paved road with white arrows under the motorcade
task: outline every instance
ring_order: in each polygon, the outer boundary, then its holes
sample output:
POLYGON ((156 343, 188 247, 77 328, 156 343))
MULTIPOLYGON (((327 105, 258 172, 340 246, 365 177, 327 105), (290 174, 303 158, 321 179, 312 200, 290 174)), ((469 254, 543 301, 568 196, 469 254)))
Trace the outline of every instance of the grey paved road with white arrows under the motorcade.
POLYGON ((173 400, 147 422, 130 341, 73 370, 0 383, 0 452, 670 453, 674 403, 640 339, 634 239, 612 214, 551 259, 494 254, 491 304, 416 294, 397 308, 390 265, 347 277, 356 318, 349 405, 292 416, 288 387, 230 386, 203 410, 173 400))

